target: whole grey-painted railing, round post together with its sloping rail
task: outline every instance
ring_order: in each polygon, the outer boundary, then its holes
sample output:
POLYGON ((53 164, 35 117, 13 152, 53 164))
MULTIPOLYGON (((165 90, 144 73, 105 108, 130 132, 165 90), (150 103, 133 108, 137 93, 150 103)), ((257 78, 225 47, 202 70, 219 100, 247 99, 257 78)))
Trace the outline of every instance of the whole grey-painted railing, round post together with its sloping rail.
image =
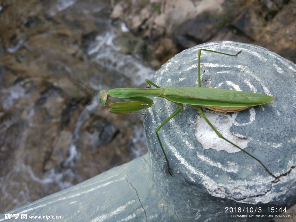
POLYGON ((178 106, 152 98, 154 104, 144 112, 148 154, 1 214, 0 221, 6 221, 8 214, 27 214, 32 221, 36 219, 29 216, 34 215, 61 216, 61 221, 235 221, 230 218, 235 211, 271 215, 294 205, 296 65, 259 46, 211 42, 170 59, 152 82, 160 87, 197 87, 200 48, 229 54, 242 50, 237 57, 202 52, 202 87, 275 98, 236 113, 207 110, 205 115, 224 137, 260 159, 280 181, 275 182, 256 160, 221 141, 189 105, 159 131, 170 160, 170 176, 155 128, 178 106))

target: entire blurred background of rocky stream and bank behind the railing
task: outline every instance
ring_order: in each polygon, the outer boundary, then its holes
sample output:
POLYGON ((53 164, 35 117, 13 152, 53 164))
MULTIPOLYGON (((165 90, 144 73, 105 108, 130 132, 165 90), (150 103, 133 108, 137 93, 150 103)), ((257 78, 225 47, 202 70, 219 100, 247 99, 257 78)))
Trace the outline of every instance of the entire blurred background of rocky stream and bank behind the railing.
POLYGON ((0 213, 147 152, 141 115, 110 114, 68 78, 143 88, 178 52, 220 40, 296 63, 296 0, 0 0, 0 213))

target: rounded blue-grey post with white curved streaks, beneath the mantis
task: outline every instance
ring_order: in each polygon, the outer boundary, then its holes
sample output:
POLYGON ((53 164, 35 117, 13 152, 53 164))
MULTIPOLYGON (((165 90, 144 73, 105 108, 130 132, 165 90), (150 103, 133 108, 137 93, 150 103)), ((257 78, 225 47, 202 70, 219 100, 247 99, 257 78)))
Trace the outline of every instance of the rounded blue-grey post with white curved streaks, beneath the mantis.
POLYGON ((154 98, 153 106, 146 111, 144 128, 156 187, 182 221, 222 221, 227 219, 225 207, 261 207, 264 213, 270 206, 291 207, 296 200, 296 65, 260 46, 212 42, 176 55, 156 72, 152 82, 160 87, 197 87, 200 48, 229 54, 242 50, 237 57, 202 52, 202 87, 210 85, 275 98, 269 104, 236 113, 206 110, 205 115, 226 138, 234 141, 229 137, 232 136, 235 143, 242 142, 244 150, 259 158, 280 181, 274 183, 256 160, 223 143, 189 105, 159 131, 170 160, 171 177, 155 128, 178 106, 154 98))

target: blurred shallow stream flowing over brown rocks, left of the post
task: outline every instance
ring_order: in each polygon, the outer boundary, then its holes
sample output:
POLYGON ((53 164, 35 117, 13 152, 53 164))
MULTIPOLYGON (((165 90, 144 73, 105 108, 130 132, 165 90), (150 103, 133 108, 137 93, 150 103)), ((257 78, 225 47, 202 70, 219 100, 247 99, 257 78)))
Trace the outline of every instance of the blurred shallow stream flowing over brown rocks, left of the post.
POLYGON ((135 87, 152 70, 113 43, 108 2, 64 3, 1 1, 1 213, 145 153, 141 118, 87 105, 96 95, 78 83, 135 87))

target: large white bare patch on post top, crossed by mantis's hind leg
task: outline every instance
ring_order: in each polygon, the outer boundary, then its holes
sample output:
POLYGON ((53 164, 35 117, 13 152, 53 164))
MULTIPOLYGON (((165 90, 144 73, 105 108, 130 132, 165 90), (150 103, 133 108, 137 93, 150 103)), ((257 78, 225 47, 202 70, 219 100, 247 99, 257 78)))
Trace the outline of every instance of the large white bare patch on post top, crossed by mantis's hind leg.
MULTIPOLYGON (((248 146, 247 139, 235 136, 230 132, 230 127, 232 126, 233 122, 233 119, 230 115, 208 111, 207 118, 226 139, 233 142, 234 144, 237 144, 242 149, 248 146)), ((237 147, 229 144, 229 142, 219 138, 215 131, 213 131, 213 129, 209 126, 209 124, 207 124, 201 115, 196 115, 195 123, 196 127, 194 135, 196 139, 202 144, 204 149, 215 149, 217 151, 225 150, 229 153, 240 151, 237 147)))

